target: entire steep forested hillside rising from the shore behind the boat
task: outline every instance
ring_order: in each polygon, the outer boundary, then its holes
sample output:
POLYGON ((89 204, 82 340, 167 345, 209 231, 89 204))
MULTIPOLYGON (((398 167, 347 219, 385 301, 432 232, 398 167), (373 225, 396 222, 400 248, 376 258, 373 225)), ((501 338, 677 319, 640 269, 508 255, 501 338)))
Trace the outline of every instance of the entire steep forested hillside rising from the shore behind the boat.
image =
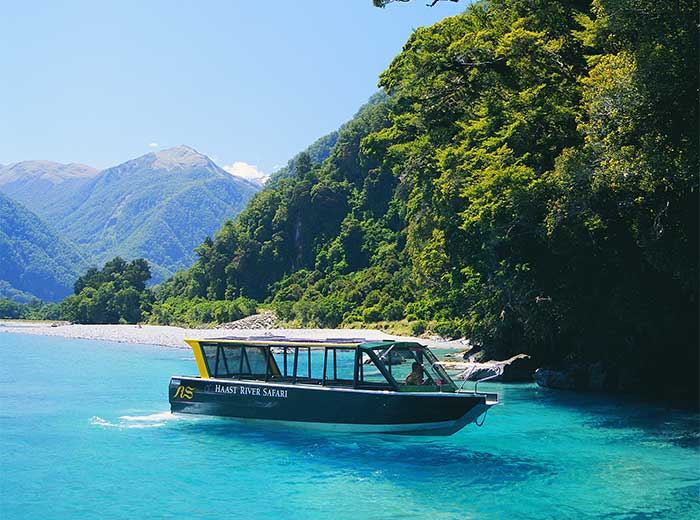
POLYGON ((683 360, 695 381, 697 13, 492 0, 416 30, 389 97, 162 295, 251 296, 307 324, 435 320, 493 356, 646 380, 683 360))

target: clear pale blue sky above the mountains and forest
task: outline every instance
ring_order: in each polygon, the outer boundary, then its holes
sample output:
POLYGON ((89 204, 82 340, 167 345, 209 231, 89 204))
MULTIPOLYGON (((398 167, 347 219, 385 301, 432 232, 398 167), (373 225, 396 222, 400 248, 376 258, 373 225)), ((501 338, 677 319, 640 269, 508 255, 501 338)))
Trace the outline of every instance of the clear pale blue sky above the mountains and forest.
POLYGON ((105 168, 187 144, 220 165, 270 173, 355 113, 414 28, 465 6, 6 3, 0 163, 105 168))

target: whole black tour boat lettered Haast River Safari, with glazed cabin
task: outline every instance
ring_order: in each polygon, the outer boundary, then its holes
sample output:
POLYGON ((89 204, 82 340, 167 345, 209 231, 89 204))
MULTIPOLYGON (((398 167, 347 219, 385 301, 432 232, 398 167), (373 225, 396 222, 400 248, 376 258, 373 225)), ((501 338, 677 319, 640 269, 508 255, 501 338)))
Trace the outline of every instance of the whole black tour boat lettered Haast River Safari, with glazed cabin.
POLYGON ((262 336, 185 340, 199 377, 173 376, 174 413, 338 432, 451 435, 498 396, 457 390, 425 346, 262 336))

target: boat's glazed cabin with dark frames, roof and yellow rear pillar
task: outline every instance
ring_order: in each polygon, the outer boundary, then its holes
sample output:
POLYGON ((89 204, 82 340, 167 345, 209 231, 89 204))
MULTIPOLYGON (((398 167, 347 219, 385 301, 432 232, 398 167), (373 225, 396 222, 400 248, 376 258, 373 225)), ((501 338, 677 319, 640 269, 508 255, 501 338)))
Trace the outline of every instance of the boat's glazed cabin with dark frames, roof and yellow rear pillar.
POLYGON ((363 338, 223 337, 185 340, 203 379, 245 379, 402 392, 454 392, 425 346, 363 338))

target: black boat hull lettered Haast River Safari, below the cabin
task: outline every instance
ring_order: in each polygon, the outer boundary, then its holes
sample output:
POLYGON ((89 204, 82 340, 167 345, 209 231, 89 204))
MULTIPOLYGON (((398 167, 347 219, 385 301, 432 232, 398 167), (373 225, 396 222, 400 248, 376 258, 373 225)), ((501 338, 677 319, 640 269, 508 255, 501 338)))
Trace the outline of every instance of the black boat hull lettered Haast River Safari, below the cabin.
POLYGON ((488 394, 358 390, 173 377, 173 413, 280 421, 338 432, 451 435, 494 402, 488 394))

